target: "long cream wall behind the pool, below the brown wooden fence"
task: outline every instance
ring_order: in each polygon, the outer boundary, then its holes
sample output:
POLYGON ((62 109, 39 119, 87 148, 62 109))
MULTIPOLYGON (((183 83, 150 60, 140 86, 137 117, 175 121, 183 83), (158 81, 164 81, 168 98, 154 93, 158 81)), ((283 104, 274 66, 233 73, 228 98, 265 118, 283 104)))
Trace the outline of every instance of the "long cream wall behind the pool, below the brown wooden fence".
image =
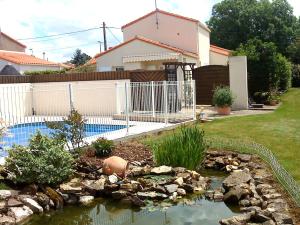
POLYGON ((73 106, 87 116, 111 116, 124 107, 121 87, 129 80, 51 82, 33 84, 33 107, 36 115, 61 116, 73 106))

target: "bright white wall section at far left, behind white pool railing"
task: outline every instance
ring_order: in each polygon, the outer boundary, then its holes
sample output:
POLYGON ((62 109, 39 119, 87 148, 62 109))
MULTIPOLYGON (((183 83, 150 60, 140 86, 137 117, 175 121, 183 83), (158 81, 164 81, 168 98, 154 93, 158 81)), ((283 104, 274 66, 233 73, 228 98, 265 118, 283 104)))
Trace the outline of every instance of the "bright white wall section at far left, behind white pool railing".
POLYGON ((24 116, 31 115, 31 85, 0 84, 0 120, 7 125, 23 121, 24 116))

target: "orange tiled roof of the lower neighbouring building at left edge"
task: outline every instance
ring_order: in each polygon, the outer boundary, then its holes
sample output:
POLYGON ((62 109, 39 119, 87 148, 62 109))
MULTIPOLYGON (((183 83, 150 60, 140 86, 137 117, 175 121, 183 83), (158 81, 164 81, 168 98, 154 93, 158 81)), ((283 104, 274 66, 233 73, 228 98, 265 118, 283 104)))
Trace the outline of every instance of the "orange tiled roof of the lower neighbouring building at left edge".
POLYGON ((24 52, 12 52, 0 50, 0 60, 6 60, 16 64, 22 65, 47 65, 47 66, 59 66, 59 63, 50 62, 37 58, 32 55, 27 55, 24 52))

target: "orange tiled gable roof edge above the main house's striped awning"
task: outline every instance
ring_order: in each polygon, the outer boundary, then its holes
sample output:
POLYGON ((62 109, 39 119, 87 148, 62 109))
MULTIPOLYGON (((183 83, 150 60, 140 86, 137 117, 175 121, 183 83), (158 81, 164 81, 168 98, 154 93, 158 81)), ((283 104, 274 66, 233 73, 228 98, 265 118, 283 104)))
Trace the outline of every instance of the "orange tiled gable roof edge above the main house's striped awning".
POLYGON ((132 41, 135 41, 135 40, 139 40, 139 41, 143 41, 143 42, 146 42, 146 43, 149 43, 149 44, 153 44, 153 45, 156 45, 156 46, 159 46, 159 47, 162 47, 162 48, 166 48, 166 49, 169 49, 169 50, 172 50, 174 52, 178 52, 178 53, 181 53, 183 55, 186 55, 186 56, 190 56, 190 57, 193 57, 193 58, 198 58, 198 54, 196 53, 193 53, 193 52, 188 52, 188 51, 185 51, 183 49, 180 49, 180 48, 176 48, 176 47, 173 47, 173 46, 170 46, 170 45, 167 45, 167 44, 164 44, 164 43, 161 43, 159 41, 154 41, 154 40, 151 40, 151 39, 148 39, 148 38, 145 38, 145 37, 142 37, 142 36, 136 36, 128 41, 125 41, 119 45, 116 45, 108 50, 106 50, 105 52, 101 52, 101 53, 98 53, 97 55, 95 55, 95 58, 98 58, 102 55, 105 55, 106 53, 108 52, 111 52, 115 49, 118 49, 120 47, 122 47, 123 45, 126 45, 132 41))

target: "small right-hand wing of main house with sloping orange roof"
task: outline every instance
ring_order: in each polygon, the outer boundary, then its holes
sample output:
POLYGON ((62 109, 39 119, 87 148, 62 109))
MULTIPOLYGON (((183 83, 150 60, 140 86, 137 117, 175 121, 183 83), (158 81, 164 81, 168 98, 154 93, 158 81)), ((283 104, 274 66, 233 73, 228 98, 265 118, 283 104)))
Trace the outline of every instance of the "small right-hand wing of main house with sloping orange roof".
POLYGON ((228 65, 231 51, 225 48, 220 48, 215 45, 210 45, 209 64, 210 65, 228 65))

